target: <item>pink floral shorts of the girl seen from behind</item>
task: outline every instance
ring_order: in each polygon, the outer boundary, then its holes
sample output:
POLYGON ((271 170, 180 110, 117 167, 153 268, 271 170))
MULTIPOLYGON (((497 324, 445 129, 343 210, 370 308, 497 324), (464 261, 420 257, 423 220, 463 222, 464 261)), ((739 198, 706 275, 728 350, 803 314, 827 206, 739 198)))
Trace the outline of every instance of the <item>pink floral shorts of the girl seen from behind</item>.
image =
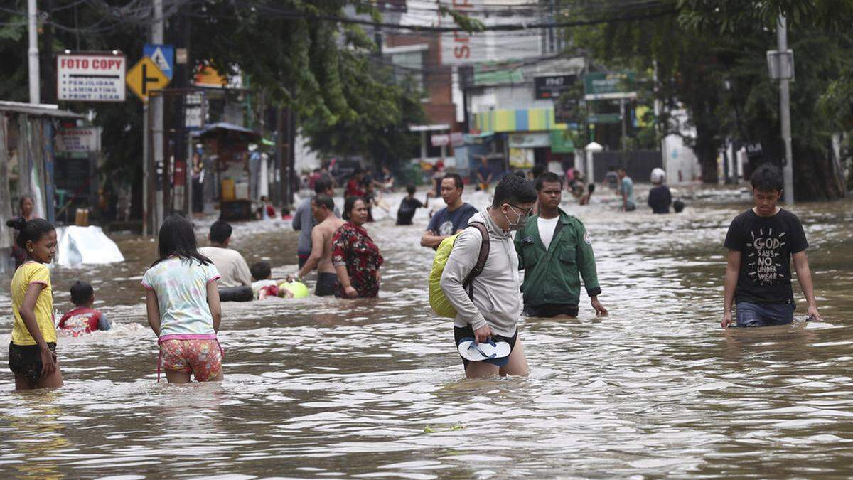
POLYGON ((192 373, 199 382, 218 380, 222 375, 222 350, 215 338, 165 340, 160 343, 160 365, 164 370, 192 373))

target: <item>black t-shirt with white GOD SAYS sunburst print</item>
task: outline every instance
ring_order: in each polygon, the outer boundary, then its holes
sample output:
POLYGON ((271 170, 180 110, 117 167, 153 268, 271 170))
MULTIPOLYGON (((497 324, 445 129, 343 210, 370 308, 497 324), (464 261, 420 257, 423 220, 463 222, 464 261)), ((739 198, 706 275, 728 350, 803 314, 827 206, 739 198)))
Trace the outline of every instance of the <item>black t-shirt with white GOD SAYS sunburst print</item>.
POLYGON ((772 217, 759 217, 750 208, 732 220, 725 246, 741 254, 735 302, 793 301, 791 255, 809 247, 797 215, 780 208, 772 217))

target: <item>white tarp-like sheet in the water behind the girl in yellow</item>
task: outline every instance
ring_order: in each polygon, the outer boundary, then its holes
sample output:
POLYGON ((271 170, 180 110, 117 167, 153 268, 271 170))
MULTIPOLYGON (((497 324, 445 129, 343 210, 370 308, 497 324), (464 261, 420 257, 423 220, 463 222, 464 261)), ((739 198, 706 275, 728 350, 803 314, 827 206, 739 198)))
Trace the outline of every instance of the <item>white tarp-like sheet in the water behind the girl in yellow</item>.
POLYGON ((54 261, 57 265, 125 261, 119 246, 104 235, 100 226, 61 226, 56 229, 56 237, 59 246, 54 261))

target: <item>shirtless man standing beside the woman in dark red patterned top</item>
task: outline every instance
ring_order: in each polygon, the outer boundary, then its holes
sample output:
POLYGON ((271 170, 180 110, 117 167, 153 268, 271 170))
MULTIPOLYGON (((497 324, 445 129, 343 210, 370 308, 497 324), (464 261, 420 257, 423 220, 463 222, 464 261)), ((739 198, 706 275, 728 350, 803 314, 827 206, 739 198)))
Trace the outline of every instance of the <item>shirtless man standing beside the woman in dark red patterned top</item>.
POLYGON ((311 199, 311 214, 317 222, 311 229, 311 253, 296 276, 301 281, 316 268, 317 284, 314 295, 334 295, 334 283, 338 280, 338 274, 332 265, 332 237, 340 225, 346 222, 334 215, 334 201, 328 195, 319 194, 311 199))

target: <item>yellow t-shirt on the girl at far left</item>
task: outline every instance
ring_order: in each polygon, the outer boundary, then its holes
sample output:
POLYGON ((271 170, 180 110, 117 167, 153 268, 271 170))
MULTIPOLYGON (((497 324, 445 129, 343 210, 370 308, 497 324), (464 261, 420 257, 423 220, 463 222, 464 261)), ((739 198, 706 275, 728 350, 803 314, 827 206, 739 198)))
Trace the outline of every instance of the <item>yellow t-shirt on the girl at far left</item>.
POLYGON ((12 313, 15 325, 12 325, 12 343, 15 345, 35 345, 30 331, 26 330, 24 319, 20 318, 20 305, 24 303, 26 289, 30 284, 43 284, 44 289, 36 299, 36 323, 42 331, 44 342, 56 342, 56 328, 53 321, 53 288, 50 286, 50 271, 38 261, 27 261, 15 270, 12 277, 12 313))

